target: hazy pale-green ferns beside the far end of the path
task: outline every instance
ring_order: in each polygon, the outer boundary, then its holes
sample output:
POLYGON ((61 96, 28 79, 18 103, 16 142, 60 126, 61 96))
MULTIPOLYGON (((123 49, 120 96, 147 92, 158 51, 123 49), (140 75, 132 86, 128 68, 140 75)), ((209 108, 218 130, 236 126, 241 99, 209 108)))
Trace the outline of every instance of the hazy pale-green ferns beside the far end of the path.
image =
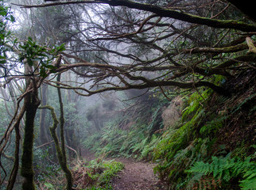
MULTIPOLYGON (((148 124, 137 123, 129 130, 122 130, 118 124, 111 123, 103 128, 101 133, 95 133, 83 142, 84 146, 95 150, 97 154, 112 157, 150 158, 157 135, 153 134, 159 128, 159 108, 153 112, 152 121, 148 124)), ((161 127, 160 127, 161 128, 161 127)))

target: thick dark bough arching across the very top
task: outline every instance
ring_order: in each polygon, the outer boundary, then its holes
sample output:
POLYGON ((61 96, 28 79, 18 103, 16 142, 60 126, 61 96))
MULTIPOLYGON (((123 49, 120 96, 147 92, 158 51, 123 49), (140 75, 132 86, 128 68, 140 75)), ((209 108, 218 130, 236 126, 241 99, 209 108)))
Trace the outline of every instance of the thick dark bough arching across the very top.
MULTIPOLYGON (((229 0, 231 3, 235 5, 235 0, 229 0)), ((149 11, 151 13, 156 13, 159 17, 169 17, 173 18, 179 21, 186 21, 193 24, 198 25, 207 25, 209 27, 213 28, 232 28, 232 29, 238 29, 243 32, 256 32, 256 26, 246 24, 241 21, 235 21, 235 20, 217 20, 217 19, 211 19, 208 17, 199 17, 196 15, 192 15, 189 13, 183 13, 180 11, 176 11, 173 9, 168 9, 160 6, 153 6, 150 4, 140 3, 140 2, 133 2, 129 0, 101 0, 101 1, 68 1, 68 2, 52 2, 48 4, 41 4, 41 5, 32 5, 32 6, 26 6, 26 5, 19 5, 23 8, 33 8, 33 7, 47 7, 47 6, 59 6, 59 5, 68 5, 68 4, 79 4, 79 3, 99 3, 99 4, 108 4, 110 6, 126 6, 131 9, 140 9, 149 11)), ((239 3, 238 6, 240 6, 243 2, 239 3)), ((15 5, 15 4, 14 4, 15 5)), ((245 10, 245 9, 243 9, 245 10)), ((246 11, 248 13, 248 11, 246 11)), ((254 13, 254 12, 253 12, 254 13)))

